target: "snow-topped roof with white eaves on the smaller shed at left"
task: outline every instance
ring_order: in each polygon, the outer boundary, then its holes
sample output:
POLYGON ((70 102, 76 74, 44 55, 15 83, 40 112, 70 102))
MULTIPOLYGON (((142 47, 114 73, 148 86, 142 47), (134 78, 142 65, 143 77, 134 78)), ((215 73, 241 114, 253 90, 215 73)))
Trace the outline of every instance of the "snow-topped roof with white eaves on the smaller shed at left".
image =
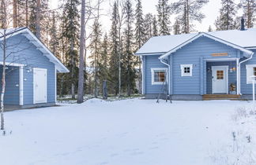
POLYGON ((49 58, 49 60, 55 64, 58 72, 70 72, 64 66, 64 64, 62 64, 62 62, 59 61, 53 53, 51 53, 50 49, 48 49, 47 46, 40 41, 40 39, 36 38, 36 35, 34 35, 27 27, 8 28, 6 30, 0 29, 0 41, 3 39, 4 35, 6 35, 6 38, 9 38, 18 34, 22 34, 28 38, 28 40, 30 40, 43 53, 44 56, 49 58))

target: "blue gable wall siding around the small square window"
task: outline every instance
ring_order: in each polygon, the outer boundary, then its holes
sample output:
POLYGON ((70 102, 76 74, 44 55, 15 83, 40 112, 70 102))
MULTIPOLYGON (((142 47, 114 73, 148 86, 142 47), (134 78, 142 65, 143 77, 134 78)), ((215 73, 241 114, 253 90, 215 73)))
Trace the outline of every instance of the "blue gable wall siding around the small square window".
POLYGON ((177 52, 172 54, 173 56, 173 93, 174 94, 205 94, 206 86, 203 86, 201 91, 201 82, 205 84, 205 58, 227 58, 227 57, 212 57, 212 53, 228 53, 228 57, 236 57, 237 50, 230 46, 226 46, 220 42, 216 42, 213 39, 201 37, 194 42, 184 46, 177 52), (201 64, 202 63, 202 64, 201 64), (193 64, 192 76, 181 76, 180 64, 193 64), (202 66, 201 66, 202 65, 202 66), (201 73, 201 68, 204 68, 201 73), (201 76, 203 79, 201 79, 201 76))

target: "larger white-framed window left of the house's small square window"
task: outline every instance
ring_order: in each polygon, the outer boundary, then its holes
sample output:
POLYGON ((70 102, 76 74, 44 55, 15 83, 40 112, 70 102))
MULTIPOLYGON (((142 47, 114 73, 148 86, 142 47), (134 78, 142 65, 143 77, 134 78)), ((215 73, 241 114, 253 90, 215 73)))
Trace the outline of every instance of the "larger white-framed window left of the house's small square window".
POLYGON ((151 68, 152 85, 161 85, 167 80, 167 68, 151 68))

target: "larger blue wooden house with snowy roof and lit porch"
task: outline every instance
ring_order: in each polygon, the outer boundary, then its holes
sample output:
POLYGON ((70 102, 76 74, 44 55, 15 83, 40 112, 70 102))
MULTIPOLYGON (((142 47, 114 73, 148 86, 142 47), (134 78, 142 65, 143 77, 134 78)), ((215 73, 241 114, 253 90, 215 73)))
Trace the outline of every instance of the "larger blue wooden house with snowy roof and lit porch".
POLYGON ((256 28, 156 36, 135 53, 142 60, 146 98, 174 100, 252 97, 256 28))

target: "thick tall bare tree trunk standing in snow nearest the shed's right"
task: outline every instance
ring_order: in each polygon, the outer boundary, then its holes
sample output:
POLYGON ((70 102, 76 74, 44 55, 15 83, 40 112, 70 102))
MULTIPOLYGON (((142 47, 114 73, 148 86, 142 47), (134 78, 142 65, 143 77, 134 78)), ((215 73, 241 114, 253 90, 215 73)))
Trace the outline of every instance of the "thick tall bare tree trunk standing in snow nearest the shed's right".
POLYGON ((81 1, 81 34, 80 34, 80 49, 79 49, 79 78, 77 103, 84 101, 84 50, 85 50, 85 0, 81 1))

